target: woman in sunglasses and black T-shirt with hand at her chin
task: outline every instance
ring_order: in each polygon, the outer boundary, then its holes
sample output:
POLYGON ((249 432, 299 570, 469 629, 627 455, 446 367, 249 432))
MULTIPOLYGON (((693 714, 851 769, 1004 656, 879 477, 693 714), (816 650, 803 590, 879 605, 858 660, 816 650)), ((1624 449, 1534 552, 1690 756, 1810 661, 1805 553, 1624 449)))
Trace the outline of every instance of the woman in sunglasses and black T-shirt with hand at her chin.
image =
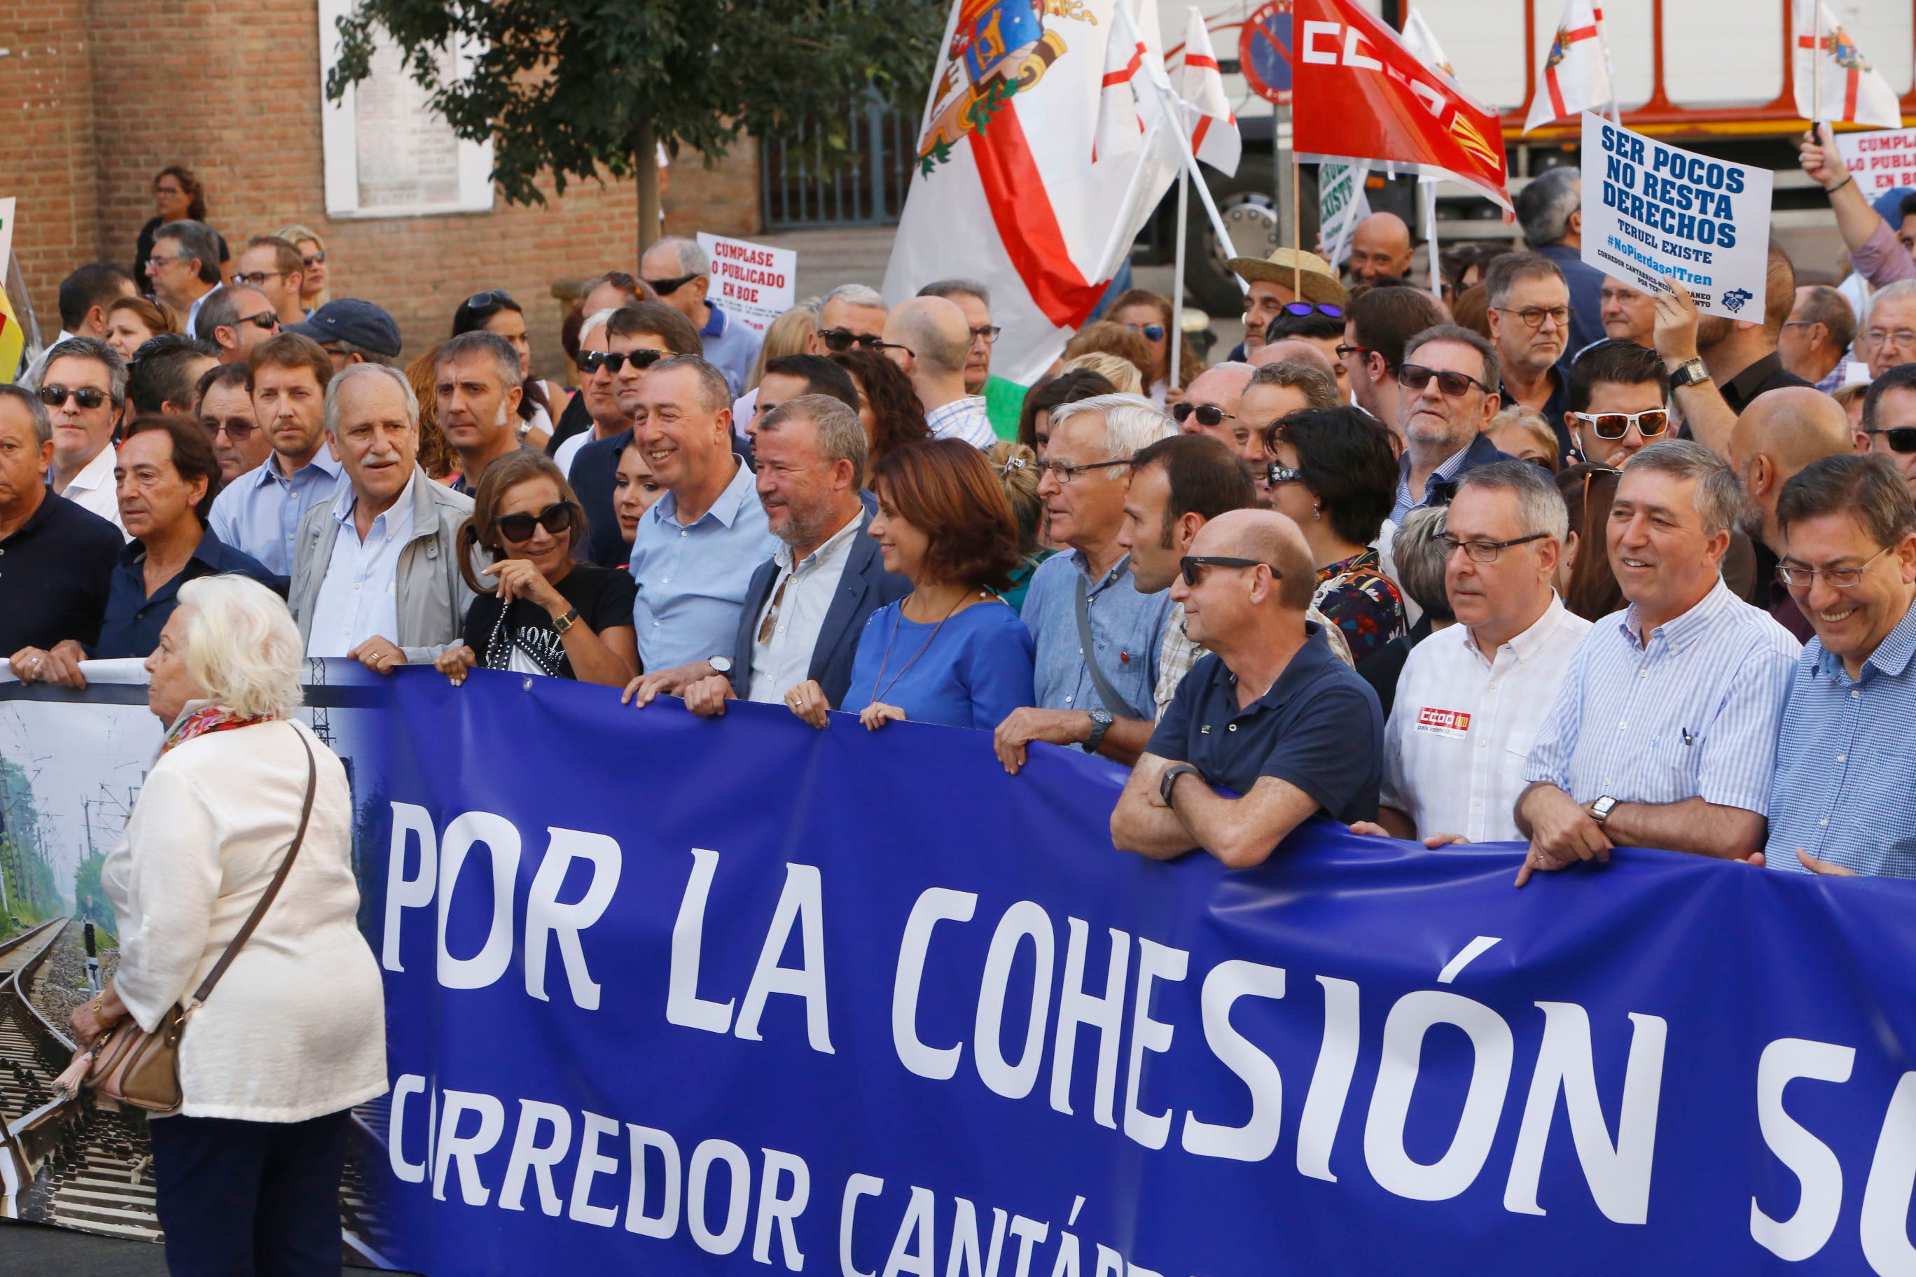
POLYGON ((607 687, 636 678, 638 586, 630 572, 575 559, 584 534, 579 498, 552 458, 521 448, 487 465, 458 532, 460 576, 479 597, 466 641, 435 661, 439 672, 454 685, 473 666, 607 687), (473 563, 477 549, 490 551, 489 567, 473 563))

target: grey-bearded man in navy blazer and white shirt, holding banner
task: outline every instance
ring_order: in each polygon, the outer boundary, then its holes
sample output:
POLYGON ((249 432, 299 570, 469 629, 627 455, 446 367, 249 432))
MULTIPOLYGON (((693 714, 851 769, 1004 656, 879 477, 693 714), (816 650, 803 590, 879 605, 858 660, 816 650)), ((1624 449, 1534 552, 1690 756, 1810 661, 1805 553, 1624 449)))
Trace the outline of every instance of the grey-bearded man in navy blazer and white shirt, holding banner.
POLYGON ((753 456, 766 523, 784 544, 751 576, 732 651, 640 676, 627 689, 638 705, 667 691, 694 714, 722 714, 726 701, 778 703, 805 680, 837 705, 866 618, 912 592, 866 536, 856 412, 828 394, 791 398, 764 415, 753 456))

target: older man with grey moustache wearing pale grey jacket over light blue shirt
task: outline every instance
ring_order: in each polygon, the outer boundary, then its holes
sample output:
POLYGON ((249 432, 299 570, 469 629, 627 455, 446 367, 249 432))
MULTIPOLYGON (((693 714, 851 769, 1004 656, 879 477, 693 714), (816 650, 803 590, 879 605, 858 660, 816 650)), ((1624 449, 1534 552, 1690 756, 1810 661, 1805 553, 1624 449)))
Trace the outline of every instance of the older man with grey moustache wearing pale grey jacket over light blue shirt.
POLYGON ((420 400, 402 373, 349 364, 326 387, 326 435, 351 486, 307 511, 289 605, 308 657, 376 674, 460 641, 473 592, 456 538, 469 496, 418 467, 420 400))

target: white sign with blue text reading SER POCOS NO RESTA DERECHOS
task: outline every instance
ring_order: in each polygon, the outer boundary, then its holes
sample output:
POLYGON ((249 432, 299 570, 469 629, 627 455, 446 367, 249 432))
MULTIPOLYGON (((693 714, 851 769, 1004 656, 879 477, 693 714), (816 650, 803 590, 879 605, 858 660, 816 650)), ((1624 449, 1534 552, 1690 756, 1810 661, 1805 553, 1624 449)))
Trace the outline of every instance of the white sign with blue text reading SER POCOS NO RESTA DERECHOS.
POLYGON ((1763 322, 1770 170, 1583 115, 1583 260, 1644 291, 1665 278, 1703 314, 1763 322))

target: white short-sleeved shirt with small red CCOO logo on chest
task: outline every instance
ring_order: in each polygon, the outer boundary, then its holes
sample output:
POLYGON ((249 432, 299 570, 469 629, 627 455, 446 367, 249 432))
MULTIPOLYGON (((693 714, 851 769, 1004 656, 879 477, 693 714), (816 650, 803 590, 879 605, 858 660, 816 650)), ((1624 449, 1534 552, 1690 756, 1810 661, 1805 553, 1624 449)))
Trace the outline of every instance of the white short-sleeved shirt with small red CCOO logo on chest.
POLYGON ((1514 808, 1537 728, 1590 622, 1552 595, 1529 630, 1485 661, 1468 626, 1410 649, 1383 726, 1383 793, 1418 837, 1516 842, 1514 808))

